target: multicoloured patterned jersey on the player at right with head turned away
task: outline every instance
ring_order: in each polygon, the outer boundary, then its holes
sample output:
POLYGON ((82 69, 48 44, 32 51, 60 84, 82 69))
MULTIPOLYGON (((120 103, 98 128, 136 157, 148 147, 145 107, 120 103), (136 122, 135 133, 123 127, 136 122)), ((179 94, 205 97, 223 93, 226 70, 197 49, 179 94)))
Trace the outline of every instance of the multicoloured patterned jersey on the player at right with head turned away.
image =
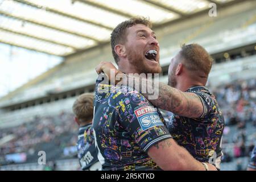
POLYGON ((199 96, 204 107, 203 114, 195 119, 172 114, 170 122, 167 122, 170 134, 195 159, 200 162, 209 162, 210 159, 210 163, 220 169, 221 138, 224 129, 221 110, 215 97, 206 87, 193 86, 186 92, 199 96))

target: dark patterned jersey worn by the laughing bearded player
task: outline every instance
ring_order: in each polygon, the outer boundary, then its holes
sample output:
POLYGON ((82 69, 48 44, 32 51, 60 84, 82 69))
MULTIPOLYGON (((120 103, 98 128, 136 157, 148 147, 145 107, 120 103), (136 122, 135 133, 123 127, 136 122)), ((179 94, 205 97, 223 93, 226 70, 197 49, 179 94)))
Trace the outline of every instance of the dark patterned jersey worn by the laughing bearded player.
POLYGON ((171 138, 159 110, 128 86, 96 82, 93 129, 103 170, 160 170, 147 155, 171 138))

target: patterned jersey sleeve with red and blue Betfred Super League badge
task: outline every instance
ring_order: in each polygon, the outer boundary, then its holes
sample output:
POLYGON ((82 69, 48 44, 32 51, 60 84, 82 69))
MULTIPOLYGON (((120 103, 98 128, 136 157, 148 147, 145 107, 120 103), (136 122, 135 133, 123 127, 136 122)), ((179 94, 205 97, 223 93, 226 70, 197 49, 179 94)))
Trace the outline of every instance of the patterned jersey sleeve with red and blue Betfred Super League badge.
POLYGON ((172 138, 158 109, 137 91, 123 94, 117 106, 120 125, 144 152, 155 143, 172 138))

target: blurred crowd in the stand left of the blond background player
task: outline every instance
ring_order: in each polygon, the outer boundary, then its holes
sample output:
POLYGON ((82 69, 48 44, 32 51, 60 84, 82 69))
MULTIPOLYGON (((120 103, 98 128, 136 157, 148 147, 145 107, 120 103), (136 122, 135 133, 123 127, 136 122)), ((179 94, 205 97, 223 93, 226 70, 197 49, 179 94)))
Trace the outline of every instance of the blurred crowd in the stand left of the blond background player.
POLYGON ((35 117, 20 126, 0 130, 0 138, 11 137, 9 142, 0 146, 0 159, 6 154, 26 152, 27 155, 38 155, 40 144, 53 143, 56 147, 75 146, 78 126, 73 122, 73 114, 62 111, 59 115, 35 117), (61 136, 69 136, 68 140, 61 136))

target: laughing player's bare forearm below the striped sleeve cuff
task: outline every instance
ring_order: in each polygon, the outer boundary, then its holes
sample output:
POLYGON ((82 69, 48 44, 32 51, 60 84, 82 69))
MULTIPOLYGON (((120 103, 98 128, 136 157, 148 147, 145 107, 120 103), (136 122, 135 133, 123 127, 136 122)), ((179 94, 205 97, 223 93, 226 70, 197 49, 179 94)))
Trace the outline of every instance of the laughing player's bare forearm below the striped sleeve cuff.
MULTIPOLYGON (((147 154, 163 170, 205 171, 201 162, 194 159, 185 148, 177 145, 171 138, 154 144, 147 154)), ((212 164, 207 165, 210 171, 216 171, 212 164)))

